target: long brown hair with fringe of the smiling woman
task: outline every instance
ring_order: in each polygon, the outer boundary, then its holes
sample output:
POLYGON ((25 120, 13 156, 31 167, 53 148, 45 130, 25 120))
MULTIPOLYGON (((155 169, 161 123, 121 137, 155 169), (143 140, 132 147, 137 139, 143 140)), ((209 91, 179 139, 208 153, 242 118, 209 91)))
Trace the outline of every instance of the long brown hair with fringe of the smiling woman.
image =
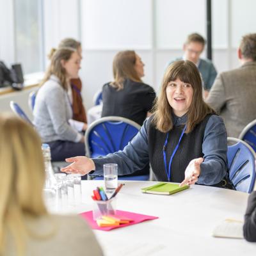
POLYGON ((173 128, 173 109, 168 102, 166 88, 170 81, 175 81, 177 78, 183 83, 191 84, 193 88, 193 99, 187 113, 186 133, 193 131, 195 125, 204 120, 207 114, 215 113, 203 100, 202 79, 196 65, 189 60, 175 61, 164 73, 159 97, 154 106, 152 122, 161 132, 168 132, 173 128))

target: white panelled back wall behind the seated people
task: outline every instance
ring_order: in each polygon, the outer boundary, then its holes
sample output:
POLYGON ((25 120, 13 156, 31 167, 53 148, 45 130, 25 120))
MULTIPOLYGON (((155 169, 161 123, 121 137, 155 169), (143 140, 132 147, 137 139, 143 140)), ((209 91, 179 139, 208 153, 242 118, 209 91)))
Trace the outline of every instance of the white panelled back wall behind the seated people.
MULTIPOLYGON (((253 0, 212 0, 212 57, 218 72, 239 67, 236 48, 241 36, 256 28, 252 10, 256 10, 253 0)), ((206 36, 205 13, 205 0, 81 0, 80 74, 86 107, 92 106, 93 94, 111 81, 113 57, 125 49, 140 54, 143 80, 158 90, 166 63, 182 56, 186 36, 195 31, 206 36)))

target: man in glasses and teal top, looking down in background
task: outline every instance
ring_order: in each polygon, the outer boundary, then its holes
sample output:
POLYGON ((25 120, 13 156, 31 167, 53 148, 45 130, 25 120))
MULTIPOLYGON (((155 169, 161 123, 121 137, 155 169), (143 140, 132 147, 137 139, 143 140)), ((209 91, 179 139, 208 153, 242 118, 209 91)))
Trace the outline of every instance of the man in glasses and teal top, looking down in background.
POLYGON ((214 79, 217 76, 217 72, 211 60, 204 60, 200 58, 200 55, 204 51, 205 43, 204 37, 198 33, 189 35, 183 45, 184 56, 177 60, 190 60, 196 65, 196 67, 198 67, 204 81, 204 97, 206 98, 212 87, 214 79))

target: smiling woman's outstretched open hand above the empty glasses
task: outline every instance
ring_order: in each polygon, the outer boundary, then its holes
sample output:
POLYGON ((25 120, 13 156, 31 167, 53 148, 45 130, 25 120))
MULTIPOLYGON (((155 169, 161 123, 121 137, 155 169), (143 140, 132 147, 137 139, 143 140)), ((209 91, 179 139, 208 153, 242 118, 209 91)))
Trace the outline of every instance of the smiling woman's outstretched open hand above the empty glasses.
POLYGON ((66 162, 73 163, 69 164, 67 167, 61 168, 61 172, 86 175, 88 172, 95 170, 94 162, 86 156, 70 157, 66 159, 66 162))

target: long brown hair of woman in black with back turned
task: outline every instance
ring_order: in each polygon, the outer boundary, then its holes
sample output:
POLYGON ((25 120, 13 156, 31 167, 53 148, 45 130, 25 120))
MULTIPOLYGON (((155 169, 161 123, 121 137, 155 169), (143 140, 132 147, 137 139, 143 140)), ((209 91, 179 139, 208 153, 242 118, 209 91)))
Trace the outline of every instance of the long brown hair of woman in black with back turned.
POLYGON ((140 76, 135 70, 136 53, 134 51, 118 52, 113 60, 113 76, 114 81, 111 86, 117 90, 124 88, 125 79, 135 82, 142 82, 140 76))

